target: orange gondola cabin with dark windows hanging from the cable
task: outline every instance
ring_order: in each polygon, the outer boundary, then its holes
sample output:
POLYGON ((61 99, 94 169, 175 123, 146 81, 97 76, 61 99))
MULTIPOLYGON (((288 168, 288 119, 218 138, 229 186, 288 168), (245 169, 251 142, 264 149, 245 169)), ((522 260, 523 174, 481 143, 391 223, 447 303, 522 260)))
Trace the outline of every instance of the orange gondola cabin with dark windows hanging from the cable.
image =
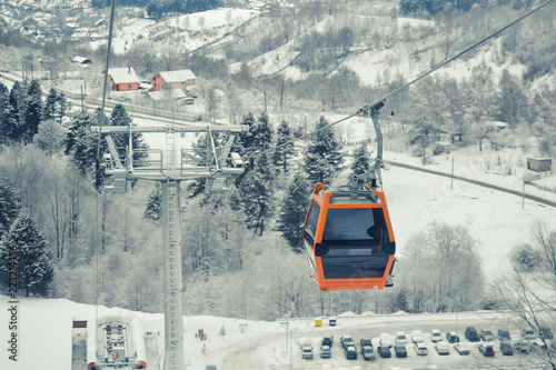
POLYGON ((320 290, 393 286, 394 231, 384 192, 370 189, 332 192, 324 183, 315 187, 302 238, 320 290))

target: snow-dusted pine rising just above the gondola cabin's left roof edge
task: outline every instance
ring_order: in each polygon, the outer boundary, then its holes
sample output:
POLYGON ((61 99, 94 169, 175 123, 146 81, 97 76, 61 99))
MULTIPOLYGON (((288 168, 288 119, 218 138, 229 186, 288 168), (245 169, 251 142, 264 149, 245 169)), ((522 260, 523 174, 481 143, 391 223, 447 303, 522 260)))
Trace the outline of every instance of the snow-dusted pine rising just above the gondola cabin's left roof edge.
POLYGON ((304 170, 310 181, 329 181, 344 163, 341 143, 336 139, 336 133, 328 121, 320 117, 316 131, 310 137, 310 142, 304 156, 304 170))

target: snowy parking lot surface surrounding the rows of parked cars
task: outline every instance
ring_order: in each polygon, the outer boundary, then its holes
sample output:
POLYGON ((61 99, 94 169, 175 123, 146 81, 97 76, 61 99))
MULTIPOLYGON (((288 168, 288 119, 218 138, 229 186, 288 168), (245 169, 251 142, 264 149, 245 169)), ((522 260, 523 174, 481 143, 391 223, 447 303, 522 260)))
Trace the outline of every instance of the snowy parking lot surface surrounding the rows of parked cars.
MULTIPOLYGON (((537 351, 542 351, 538 346, 530 346, 529 353, 520 353, 515 350, 512 356, 504 356, 500 351, 500 340, 497 338, 498 329, 509 329, 512 343, 522 339, 522 333, 507 318, 486 318, 484 316, 461 316, 458 318, 457 333, 460 338, 460 343, 467 344, 469 354, 459 354, 454 346, 449 343, 447 354, 439 354, 436 350, 436 342, 433 341, 431 330, 438 329, 443 338, 443 342, 447 343, 446 333, 455 331, 456 326, 449 317, 443 320, 427 320, 426 317, 420 317, 420 320, 411 320, 410 318, 391 318, 383 320, 371 318, 367 320, 342 320, 338 319, 336 327, 328 327, 322 322, 322 327, 309 328, 307 323, 305 329, 292 329, 289 337, 286 338, 286 329, 284 329, 284 340, 267 342, 259 346, 257 354, 254 358, 266 359, 261 363, 261 369, 476 369, 476 368, 533 368, 534 363, 542 361, 537 351), (467 326, 473 326, 479 332, 481 329, 490 330, 494 333, 493 341, 480 340, 470 342, 464 338, 464 332, 467 326), (413 330, 421 330, 423 343, 427 349, 427 354, 418 356, 411 339, 413 330), (388 333, 391 339, 395 334, 403 331, 406 334, 407 357, 397 358, 394 350, 390 350, 390 358, 380 358, 377 349, 380 346, 380 334, 388 333), (344 348, 340 344, 340 338, 349 336, 353 338, 357 350, 357 359, 346 359, 344 348), (331 347, 331 357, 320 358, 320 344, 322 337, 334 337, 331 347), (359 341, 361 338, 370 339, 375 352, 375 360, 366 361, 360 352, 359 341), (301 341, 308 340, 314 350, 312 359, 301 359, 301 341), (494 357, 485 357, 479 352, 480 344, 490 344, 495 352, 494 357), (325 367, 324 367, 325 366, 325 367)), ((272 338, 276 338, 272 334, 272 338)))

